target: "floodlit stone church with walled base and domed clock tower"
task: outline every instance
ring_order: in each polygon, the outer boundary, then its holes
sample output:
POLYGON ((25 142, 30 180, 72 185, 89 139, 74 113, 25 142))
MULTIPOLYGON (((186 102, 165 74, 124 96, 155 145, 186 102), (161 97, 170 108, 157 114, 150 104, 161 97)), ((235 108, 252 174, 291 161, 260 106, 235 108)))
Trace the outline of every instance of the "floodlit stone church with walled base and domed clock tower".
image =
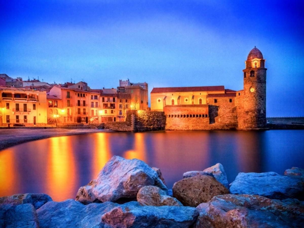
POLYGON ((151 110, 165 112, 168 130, 264 128, 266 70, 261 51, 254 47, 245 61, 244 89, 223 85, 153 88, 151 110))

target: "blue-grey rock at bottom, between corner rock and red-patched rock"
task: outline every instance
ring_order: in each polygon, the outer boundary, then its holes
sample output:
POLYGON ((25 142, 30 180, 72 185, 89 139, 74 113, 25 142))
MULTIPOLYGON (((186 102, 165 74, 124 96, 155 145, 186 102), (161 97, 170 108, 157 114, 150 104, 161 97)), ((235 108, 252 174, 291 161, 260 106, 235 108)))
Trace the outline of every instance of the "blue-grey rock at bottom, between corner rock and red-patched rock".
POLYGON ((40 227, 103 227, 101 216, 119 204, 113 202, 83 205, 72 199, 48 202, 37 210, 40 227))

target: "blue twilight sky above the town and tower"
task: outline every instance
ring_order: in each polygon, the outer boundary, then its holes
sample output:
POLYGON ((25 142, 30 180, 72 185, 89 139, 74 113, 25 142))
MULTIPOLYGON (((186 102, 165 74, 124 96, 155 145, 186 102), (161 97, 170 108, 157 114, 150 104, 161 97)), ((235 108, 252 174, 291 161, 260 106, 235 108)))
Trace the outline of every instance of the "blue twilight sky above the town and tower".
POLYGON ((304 116, 304 2, 0 1, 0 73, 116 88, 243 88, 256 45, 266 59, 267 116, 304 116))

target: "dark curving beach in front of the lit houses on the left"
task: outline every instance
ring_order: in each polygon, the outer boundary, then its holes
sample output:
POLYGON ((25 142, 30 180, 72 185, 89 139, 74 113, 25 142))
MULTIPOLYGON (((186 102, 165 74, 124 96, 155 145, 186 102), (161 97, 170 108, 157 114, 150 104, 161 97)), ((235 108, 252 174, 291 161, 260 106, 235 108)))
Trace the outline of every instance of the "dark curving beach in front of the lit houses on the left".
POLYGON ((98 132, 109 132, 103 129, 64 129, 64 128, 50 128, 50 129, 2 129, 0 130, 0 152, 22 143, 47 139, 57 136, 81 135, 98 132))

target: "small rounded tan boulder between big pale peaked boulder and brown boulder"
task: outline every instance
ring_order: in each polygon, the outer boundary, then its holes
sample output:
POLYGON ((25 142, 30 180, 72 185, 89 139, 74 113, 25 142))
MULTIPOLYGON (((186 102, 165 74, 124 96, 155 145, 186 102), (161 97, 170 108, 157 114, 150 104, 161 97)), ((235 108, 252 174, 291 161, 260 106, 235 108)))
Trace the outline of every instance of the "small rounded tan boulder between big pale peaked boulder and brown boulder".
POLYGON ((137 193, 137 201, 142 206, 183 206, 177 199, 169 196, 166 191, 155 186, 145 186, 137 193))

